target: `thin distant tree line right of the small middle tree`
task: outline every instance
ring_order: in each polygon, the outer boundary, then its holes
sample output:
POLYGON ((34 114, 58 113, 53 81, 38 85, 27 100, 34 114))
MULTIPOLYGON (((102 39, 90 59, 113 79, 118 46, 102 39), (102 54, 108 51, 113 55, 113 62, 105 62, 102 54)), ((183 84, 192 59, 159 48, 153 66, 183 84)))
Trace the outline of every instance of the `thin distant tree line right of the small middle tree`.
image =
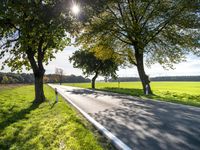
MULTIPOLYGON (((162 76, 150 78, 151 81, 200 81, 200 76, 162 76)), ((128 82, 140 81, 137 77, 119 77, 118 79, 110 79, 109 82, 128 82)))

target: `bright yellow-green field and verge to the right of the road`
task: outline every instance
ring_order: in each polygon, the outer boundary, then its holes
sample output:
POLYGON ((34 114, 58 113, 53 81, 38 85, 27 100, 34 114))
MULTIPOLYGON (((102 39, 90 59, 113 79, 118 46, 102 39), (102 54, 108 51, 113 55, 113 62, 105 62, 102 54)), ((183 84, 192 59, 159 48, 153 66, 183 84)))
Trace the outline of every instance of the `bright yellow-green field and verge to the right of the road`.
MULTIPOLYGON (((65 85, 90 88, 90 83, 65 85)), ((200 107, 200 82, 152 82, 153 95, 145 96, 140 82, 97 82, 96 89, 200 107)))

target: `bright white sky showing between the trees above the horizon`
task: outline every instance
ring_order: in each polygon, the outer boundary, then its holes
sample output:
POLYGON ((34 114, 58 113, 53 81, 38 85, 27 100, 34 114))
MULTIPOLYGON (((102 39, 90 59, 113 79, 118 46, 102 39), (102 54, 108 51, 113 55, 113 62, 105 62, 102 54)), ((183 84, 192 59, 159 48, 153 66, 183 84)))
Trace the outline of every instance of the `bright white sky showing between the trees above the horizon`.
MULTIPOLYGON (((62 68, 65 75, 83 75, 82 71, 77 68, 73 68, 73 65, 69 62, 69 57, 76 51, 77 48, 73 46, 66 47, 62 52, 57 53, 56 59, 52 60, 47 66, 45 66, 46 74, 54 73, 55 68, 62 68)), ((0 66, 2 60, 0 60, 0 66)), ((190 76, 200 75, 200 57, 193 55, 187 56, 187 61, 174 65, 175 69, 164 70, 159 64, 152 65, 151 68, 145 67, 146 73, 150 77, 156 76, 190 76)), ((10 72, 8 67, 5 67, 2 72, 10 72)), ((23 72, 28 72, 23 70, 23 72)), ((32 71, 29 71, 31 73, 32 71)), ((138 73, 135 67, 132 68, 120 68, 117 72, 120 77, 138 77, 138 73)))

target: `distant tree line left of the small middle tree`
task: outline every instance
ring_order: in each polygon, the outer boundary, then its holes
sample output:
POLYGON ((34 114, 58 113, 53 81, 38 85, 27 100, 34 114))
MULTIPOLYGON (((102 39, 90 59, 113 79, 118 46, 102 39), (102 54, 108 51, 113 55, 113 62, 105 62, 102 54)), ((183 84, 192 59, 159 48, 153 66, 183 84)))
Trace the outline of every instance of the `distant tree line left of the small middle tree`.
MULTIPOLYGON (((48 74, 44 76, 45 83, 59 83, 59 76, 56 74, 48 74)), ((62 82, 64 83, 80 83, 80 82, 90 82, 90 79, 84 78, 82 76, 63 75, 62 82)), ((0 84, 15 84, 15 83, 34 83, 33 74, 17 74, 17 73, 1 73, 0 72, 0 84)))

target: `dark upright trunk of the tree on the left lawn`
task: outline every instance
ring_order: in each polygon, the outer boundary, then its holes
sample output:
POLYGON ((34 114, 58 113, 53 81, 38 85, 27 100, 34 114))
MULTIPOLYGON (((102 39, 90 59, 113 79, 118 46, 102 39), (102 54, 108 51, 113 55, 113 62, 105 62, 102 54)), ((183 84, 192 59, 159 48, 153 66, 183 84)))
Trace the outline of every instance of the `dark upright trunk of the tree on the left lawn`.
POLYGON ((42 103, 45 101, 44 90, 43 90, 43 77, 44 70, 40 70, 34 73, 35 77, 35 100, 34 103, 42 103))

